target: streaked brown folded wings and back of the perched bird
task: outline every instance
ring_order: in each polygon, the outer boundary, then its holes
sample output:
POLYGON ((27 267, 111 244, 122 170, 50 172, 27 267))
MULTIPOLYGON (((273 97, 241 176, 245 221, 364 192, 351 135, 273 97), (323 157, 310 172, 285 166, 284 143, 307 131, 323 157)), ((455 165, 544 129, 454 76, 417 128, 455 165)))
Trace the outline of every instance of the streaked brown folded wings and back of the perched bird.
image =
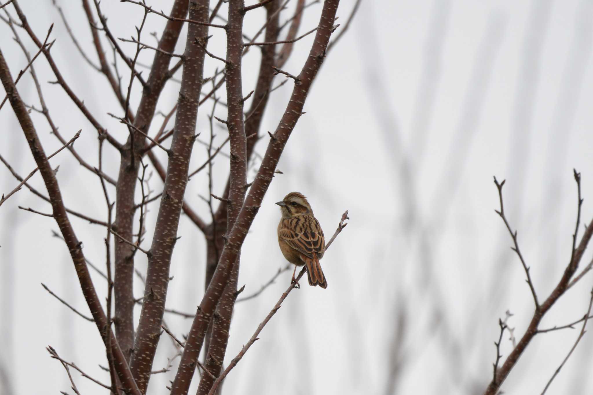
POLYGON ((316 253, 318 258, 323 256, 326 246, 323 230, 313 216, 297 216, 283 220, 279 235, 289 246, 311 259, 313 253, 316 253))

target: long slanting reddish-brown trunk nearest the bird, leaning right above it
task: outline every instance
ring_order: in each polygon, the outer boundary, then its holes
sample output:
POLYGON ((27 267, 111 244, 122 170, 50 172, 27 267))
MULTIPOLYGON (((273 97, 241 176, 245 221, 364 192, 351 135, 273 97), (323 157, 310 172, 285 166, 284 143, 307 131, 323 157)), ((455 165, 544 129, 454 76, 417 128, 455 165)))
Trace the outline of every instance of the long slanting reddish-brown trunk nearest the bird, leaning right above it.
POLYGON ((237 221, 232 227, 231 232, 227 235, 227 244, 222 251, 218 267, 198 307, 181 357, 180 366, 173 382, 172 395, 187 393, 187 388, 189 388, 193 375, 193 364, 202 348, 206 329, 212 314, 222 296, 232 266, 239 256, 241 245, 243 245, 251 223, 253 223, 253 219, 259 210, 267 188, 270 182, 272 182, 272 177, 276 165, 278 165, 280 155, 282 155, 282 150, 302 114, 302 108, 311 84, 321 67, 321 63, 323 63, 327 44, 334 30, 333 23, 338 4, 339 0, 324 1, 319 28, 315 33, 315 39, 307 61, 298 76, 298 84, 295 85, 292 91, 291 99, 276 129, 276 133, 271 135, 272 140, 267 147, 262 165, 253 185, 251 185, 247 199, 238 214, 237 221))

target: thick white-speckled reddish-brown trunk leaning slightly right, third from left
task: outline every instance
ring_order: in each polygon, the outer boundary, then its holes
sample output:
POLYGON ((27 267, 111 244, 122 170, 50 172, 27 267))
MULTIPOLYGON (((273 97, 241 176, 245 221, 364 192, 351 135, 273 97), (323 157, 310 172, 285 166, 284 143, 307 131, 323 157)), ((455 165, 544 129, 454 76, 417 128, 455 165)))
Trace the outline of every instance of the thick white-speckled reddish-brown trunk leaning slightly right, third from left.
MULTIPOLYGON (((208 21, 208 0, 189 1, 189 19, 208 21)), ((188 24, 178 110, 171 142, 167 178, 157 215, 148 259, 146 288, 130 370, 144 393, 151 377, 152 362, 161 333, 169 281, 171 255, 187 186, 189 162, 195 141, 199 95, 202 90, 205 52, 193 43, 208 36, 208 27, 188 24)), ((137 120, 139 116, 137 115, 137 120)))

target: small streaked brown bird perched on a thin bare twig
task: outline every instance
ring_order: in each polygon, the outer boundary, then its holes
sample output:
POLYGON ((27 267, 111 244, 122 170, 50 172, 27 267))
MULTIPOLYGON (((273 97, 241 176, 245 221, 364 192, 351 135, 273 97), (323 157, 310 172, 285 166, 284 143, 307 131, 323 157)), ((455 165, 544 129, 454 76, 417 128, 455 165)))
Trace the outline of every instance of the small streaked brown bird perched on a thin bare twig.
POLYGON ((276 204, 282 211, 282 219, 278 224, 280 251, 288 262, 296 265, 292 281, 297 282, 297 266, 307 265, 309 285, 327 288, 327 280, 319 264, 326 249, 326 240, 307 198, 299 192, 291 192, 276 204))

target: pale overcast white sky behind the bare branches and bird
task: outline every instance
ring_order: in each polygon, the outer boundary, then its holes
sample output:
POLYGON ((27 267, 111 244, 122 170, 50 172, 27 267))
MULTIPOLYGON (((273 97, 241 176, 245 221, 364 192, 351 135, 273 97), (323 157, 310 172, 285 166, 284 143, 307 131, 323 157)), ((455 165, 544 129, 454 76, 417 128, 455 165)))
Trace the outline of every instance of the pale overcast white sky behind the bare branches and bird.
MULTIPOLYGON (((57 2, 94 60, 81 4, 57 2)), ((340 2, 339 23, 345 23, 353 3, 340 2)), ((81 60, 52 3, 21 0, 20 4, 38 36, 45 36, 55 23, 56 63, 93 114, 125 141, 126 129, 106 114, 121 113, 109 86, 81 60)), ((151 3, 165 12, 169 4, 151 3)), ((142 17, 137 6, 104 1, 101 7, 116 37, 135 34, 134 25, 142 17)), ((7 9, 14 15, 12 6, 7 9)), ((320 10, 320 4, 307 9, 302 31, 315 27, 320 10)), ((248 15, 248 34, 257 31, 263 15, 261 10, 248 15)), ((499 317, 504 318, 506 310, 514 314, 509 325, 519 338, 533 313, 525 273, 494 212, 499 201, 492 176, 507 180, 505 209, 511 226, 518 229, 540 300, 556 285, 570 258, 576 217, 573 168, 582 172, 582 223, 593 215, 592 22, 593 3, 588 0, 362 1, 350 30, 323 64, 305 103, 307 114, 299 120, 280 160, 278 167, 284 174, 273 180, 241 254, 239 282, 246 284, 245 292, 250 294, 286 263, 276 243, 280 214, 273 203, 287 192, 300 191, 309 198, 327 237, 343 211, 350 213, 349 226, 321 261, 329 287, 324 291, 305 284, 291 293, 231 372, 223 393, 483 391, 492 377, 499 317)), ((162 18, 150 15, 144 41, 154 43, 148 33, 160 32, 163 25, 162 18)), ((34 53, 24 31, 18 33, 34 53)), ((224 35, 212 33, 209 49, 223 55, 224 35)), ((0 25, 0 48, 14 77, 27 61, 11 37, 8 27, 0 25)), ((298 73, 311 40, 313 36, 298 43, 286 70, 298 73)), ((122 46, 130 53, 135 49, 133 44, 122 46)), ((181 39, 176 52, 181 53, 183 46, 181 39)), ((150 63, 152 56, 146 50, 141 61, 150 63)), ((58 85, 46 84, 55 78, 42 57, 35 65, 55 123, 67 139, 82 129, 75 147, 96 164, 96 131, 58 85)), ((220 67, 218 61, 207 59, 205 75, 216 67, 220 67)), ((253 51, 244 63, 245 94, 253 89, 258 67, 259 54, 253 51)), ((282 80, 283 76, 276 77, 276 84, 282 80)), ((276 128, 291 86, 289 81, 272 97, 262 124, 264 133, 276 128)), ((18 89, 28 103, 38 105, 29 76, 18 89)), ((134 93, 133 108, 139 92, 134 93)), ((168 112, 177 92, 177 84, 168 85, 159 110, 168 112)), ((209 111, 202 108, 198 115, 198 131, 204 139, 209 111)), ((224 118, 224 107, 218 111, 224 118)), ((48 133, 42 115, 31 115, 46 152, 53 152, 60 144, 48 133)), ((160 126, 156 119, 151 134, 160 126)), ((4 132, 0 154, 21 175, 28 174, 35 167, 33 158, 8 105, 0 111, 0 125, 4 132)), ((225 133, 218 130, 215 144, 224 141, 225 133)), ((257 145, 259 153, 264 152, 265 143, 263 139, 257 145)), ((193 163, 197 166, 205 157, 204 147, 196 144, 193 163)), ((228 163, 222 156, 215 163, 215 193, 219 194, 228 163)), ((66 205, 104 218, 97 178, 79 167, 68 152, 52 159, 52 166, 58 165, 66 205)), ((106 152, 105 166, 108 174, 117 175, 116 152, 106 152)), ((17 184, 7 169, 0 168, 1 192, 17 184)), ((32 184, 43 190, 39 175, 32 184)), ((161 187, 155 174, 151 188, 160 191, 161 187)), ((198 194, 207 193, 203 172, 190 182, 186 200, 205 218, 208 207, 198 194)), ((27 190, 0 208, 0 363, 9 372, 14 393, 69 390, 65 371, 50 359, 44 349, 47 345, 89 374, 109 381, 97 366, 106 361, 94 324, 75 316, 40 285, 43 282, 81 311, 88 311, 68 252, 52 237, 52 230, 58 229, 55 221, 18 210, 18 205, 50 210, 27 190)), ((153 206, 148 229, 154 226, 156 212, 153 206)), ((79 219, 72 223, 87 258, 103 267, 104 229, 79 219)), ((173 255, 175 278, 167 306, 194 311, 204 291, 205 242, 185 218, 178 235, 182 237, 173 255)), ((146 246, 151 238, 146 235, 146 246)), ((588 251, 582 266, 590 261, 588 251)), ((137 263, 144 271, 144 257, 137 263)), ((227 361, 247 342, 289 278, 289 273, 283 274, 261 296, 237 305, 227 361)), ((104 281, 98 275, 94 281, 104 297, 104 281)), ((571 288, 541 327, 582 317, 592 286, 589 275, 571 288)), ((142 294, 138 284, 135 293, 142 294)), ((178 335, 189 330, 190 320, 166 319, 178 335)), ((577 327, 536 336, 503 384, 505 394, 541 393, 578 336, 581 327, 577 327)), ((592 346, 587 333, 547 393, 593 391, 592 346)), ((503 357, 511 349, 505 333, 503 357)), ((155 369, 164 367, 171 355, 170 342, 164 339, 155 369)), ((164 393, 173 374, 155 375, 149 393, 164 393)), ((75 380, 83 394, 104 393, 78 374, 75 380)))

